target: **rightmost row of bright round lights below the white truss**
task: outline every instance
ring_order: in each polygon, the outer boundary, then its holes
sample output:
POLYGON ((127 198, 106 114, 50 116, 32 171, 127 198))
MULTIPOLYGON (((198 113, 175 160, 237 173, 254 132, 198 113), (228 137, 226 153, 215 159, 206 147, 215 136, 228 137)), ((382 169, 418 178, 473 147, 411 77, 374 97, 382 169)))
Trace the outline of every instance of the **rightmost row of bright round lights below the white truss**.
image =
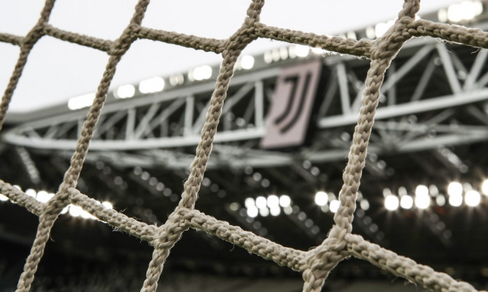
MULTIPOLYGON (((488 180, 485 180, 481 186, 481 193, 488 195, 488 180)), ((415 188, 415 197, 408 195, 406 188, 403 186, 398 189, 398 195, 391 193, 391 190, 385 188, 383 190, 385 197, 385 208, 389 211, 395 211, 401 207, 402 209, 411 209, 414 205, 418 209, 427 209, 431 205, 431 200, 435 200, 438 206, 444 206, 446 198, 439 193, 436 186, 429 187, 419 185, 415 188)), ((451 206, 461 206, 464 203, 467 206, 475 207, 481 203, 482 195, 478 190, 474 190, 470 184, 461 184, 453 181, 448 185, 448 200, 451 206), (464 196, 463 196, 464 194, 464 196)))

